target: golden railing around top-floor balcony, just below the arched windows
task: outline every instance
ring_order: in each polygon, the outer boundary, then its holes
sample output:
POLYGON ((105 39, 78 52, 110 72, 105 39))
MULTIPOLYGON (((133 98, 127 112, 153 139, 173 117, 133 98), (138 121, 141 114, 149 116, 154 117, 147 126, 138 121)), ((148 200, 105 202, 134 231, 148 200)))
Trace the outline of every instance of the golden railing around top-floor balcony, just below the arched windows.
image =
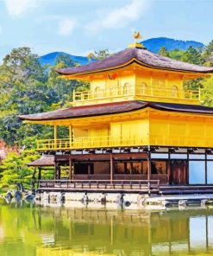
POLYGON ((197 90, 179 90, 177 87, 165 88, 153 86, 122 86, 110 89, 99 89, 98 91, 73 92, 73 101, 86 101, 91 99, 111 99, 125 96, 135 96, 141 99, 163 98, 163 99, 193 99, 199 100, 200 93, 197 90))

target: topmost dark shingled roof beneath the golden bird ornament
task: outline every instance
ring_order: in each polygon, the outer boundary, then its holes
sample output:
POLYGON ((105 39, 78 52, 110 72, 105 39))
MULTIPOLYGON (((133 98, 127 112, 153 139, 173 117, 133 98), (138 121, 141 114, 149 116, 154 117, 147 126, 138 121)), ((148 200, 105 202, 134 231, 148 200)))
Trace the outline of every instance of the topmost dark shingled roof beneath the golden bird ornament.
POLYGON ((126 48, 106 59, 85 66, 58 69, 56 72, 64 75, 92 73, 104 69, 126 66, 129 61, 132 62, 135 60, 139 61, 141 65, 160 69, 172 69, 192 73, 213 73, 213 67, 202 67, 182 61, 175 61, 160 54, 153 54, 145 48, 126 48))

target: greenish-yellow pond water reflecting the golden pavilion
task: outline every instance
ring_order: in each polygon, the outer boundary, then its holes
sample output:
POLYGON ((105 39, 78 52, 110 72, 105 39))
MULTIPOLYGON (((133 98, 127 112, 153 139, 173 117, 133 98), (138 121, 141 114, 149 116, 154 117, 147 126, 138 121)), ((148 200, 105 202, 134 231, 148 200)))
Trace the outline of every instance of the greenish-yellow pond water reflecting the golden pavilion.
POLYGON ((213 255, 213 209, 0 205, 0 255, 213 255))

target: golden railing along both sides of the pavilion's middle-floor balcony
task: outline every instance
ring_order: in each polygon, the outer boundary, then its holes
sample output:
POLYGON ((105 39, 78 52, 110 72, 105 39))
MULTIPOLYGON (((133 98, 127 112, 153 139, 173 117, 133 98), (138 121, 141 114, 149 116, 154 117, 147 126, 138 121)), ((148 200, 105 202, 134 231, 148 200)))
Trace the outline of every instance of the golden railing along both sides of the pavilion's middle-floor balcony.
POLYGON ((37 150, 82 150, 96 148, 132 147, 144 145, 212 147, 213 137, 191 135, 150 135, 150 138, 122 138, 119 136, 96 138, 42 139, 37 141, 37 150))

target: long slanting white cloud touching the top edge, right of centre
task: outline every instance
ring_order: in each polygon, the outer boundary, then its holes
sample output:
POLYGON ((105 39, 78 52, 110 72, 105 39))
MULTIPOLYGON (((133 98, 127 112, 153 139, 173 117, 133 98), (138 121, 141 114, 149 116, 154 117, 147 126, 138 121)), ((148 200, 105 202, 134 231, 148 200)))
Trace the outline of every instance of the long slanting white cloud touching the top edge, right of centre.
POLYGON ((132 0, 131 3, 120 9, 112 10, 107 16, 102 16, 88 25, 88 32, 97 34, 103 29, 119 29, 128 25, 129 22, 137 20, 148 7, 148 0, 132 0))

